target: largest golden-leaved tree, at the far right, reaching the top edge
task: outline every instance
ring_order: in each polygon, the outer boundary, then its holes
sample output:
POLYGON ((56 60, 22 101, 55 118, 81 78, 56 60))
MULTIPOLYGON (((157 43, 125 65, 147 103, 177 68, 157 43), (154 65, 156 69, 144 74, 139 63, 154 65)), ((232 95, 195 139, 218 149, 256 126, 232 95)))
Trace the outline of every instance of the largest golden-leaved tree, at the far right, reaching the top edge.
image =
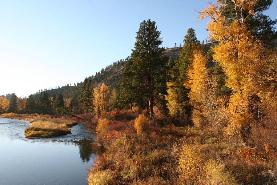
POLYGON ((276 50, 252 37, 243 14, 255 14, 257 3, 257 0, 233 0, 231 8, 236 19, 231 21, 221 14, 225 5, 219 2, 210 3, 199 13, 199 20, 211 18, 207 30, 210 38, 219 42, 213 47, 213 59, 220 62, 227 76, 226 85, 233 91, 228 105, 227 135, 237 131, 245 136, 254 119, 260 119, 262 107, 276 103, 276 50))

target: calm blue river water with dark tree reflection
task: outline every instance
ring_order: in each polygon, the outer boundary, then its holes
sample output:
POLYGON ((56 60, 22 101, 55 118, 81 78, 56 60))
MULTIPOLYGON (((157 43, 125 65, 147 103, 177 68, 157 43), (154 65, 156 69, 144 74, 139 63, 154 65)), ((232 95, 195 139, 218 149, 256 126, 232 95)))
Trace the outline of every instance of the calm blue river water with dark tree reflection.
POLYGON ((30 122, 0 118, 0 185, 86 185, 87 170, 101 154, 82 124, 68 135, 27 139, 30 122))

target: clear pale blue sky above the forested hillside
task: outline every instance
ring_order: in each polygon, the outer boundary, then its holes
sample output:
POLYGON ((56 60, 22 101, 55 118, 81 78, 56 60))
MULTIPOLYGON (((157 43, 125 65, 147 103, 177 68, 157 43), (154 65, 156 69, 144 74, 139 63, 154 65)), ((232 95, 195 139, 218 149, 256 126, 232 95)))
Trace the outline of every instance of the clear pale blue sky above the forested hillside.
MULTIPOLYGON (((195 10, 207 0, 0 0, 0 95, 28 96, 39 89, 81 82, 126 58, 143 20, 156 22, 163 47, 182 43, 192 27, 208 38, 195 10)), ((277 3, 265 14, 276 19, 277 3)))

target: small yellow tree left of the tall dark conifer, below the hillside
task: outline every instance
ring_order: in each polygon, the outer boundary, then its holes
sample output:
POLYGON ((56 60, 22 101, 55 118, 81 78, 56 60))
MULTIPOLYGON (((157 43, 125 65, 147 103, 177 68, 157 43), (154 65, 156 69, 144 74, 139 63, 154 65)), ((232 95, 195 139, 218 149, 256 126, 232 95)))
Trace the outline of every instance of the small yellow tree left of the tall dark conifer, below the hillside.
POLYGON ((101 86, 96 86, 94 88, 93 96, 94 113, 100 114, 107 109, 108 100, 110 98, 110 86, 107 86, 104 83, 102 83, 101 86))

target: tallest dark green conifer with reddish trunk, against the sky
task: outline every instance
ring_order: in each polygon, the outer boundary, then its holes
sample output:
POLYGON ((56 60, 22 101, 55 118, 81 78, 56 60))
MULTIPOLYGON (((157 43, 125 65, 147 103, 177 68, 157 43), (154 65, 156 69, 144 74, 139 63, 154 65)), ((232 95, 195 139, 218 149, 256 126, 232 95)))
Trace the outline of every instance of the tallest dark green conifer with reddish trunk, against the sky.
POLYGON ((154 115, 154 99, 165 88, 164 69, 166 62, 161 58, 164 48, 155 21, 148 19, 140 23, 135 46, 132 52, 132 78, 138 82, 136 91, 149 107, 151 117, 154 115))

